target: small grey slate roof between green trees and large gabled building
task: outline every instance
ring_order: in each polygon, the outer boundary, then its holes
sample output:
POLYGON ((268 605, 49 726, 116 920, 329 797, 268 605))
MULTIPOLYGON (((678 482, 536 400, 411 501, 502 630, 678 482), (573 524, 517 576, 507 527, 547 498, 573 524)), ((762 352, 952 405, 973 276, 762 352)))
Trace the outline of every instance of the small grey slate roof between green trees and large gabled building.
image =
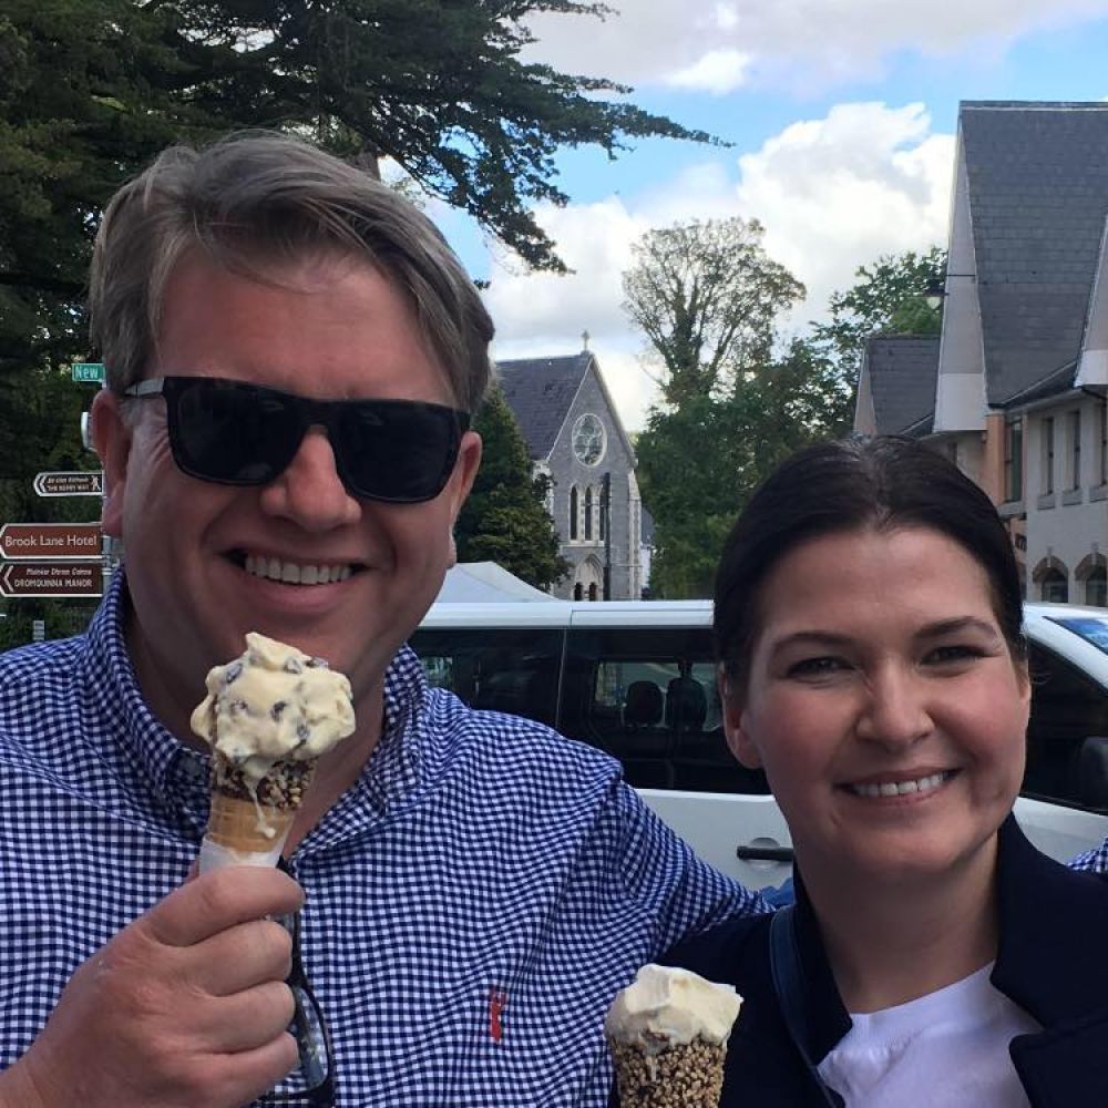
MULTIPOLYGON (((880 434, 902 434, 935 410, 937 335, 871 335, 865 341, 873 417, 880 434)), ((930 430, 930 428, 927 429, 930 430)))

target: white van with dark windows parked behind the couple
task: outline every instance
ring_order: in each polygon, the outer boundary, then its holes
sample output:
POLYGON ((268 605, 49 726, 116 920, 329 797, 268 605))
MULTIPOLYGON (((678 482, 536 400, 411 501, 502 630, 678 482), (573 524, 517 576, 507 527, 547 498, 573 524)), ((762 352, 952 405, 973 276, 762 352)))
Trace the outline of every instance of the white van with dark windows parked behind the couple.
MULTIPOLYGON (((1108 609, 1028 604, 1034 681, 1016 815, 1068 861, 1108 837, 1108 609)), ((708 601, 432 606, 411 645, 433 685, 537 719, 618 758, 647 803, 752 888, 790 872, 760 771, 724 739, 708 601)))

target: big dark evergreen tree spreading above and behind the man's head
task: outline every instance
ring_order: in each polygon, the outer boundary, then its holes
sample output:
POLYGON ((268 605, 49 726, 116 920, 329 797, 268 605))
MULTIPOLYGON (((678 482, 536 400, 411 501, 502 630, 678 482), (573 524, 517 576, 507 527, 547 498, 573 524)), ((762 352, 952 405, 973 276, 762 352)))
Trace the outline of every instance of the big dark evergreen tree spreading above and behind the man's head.
POLYGON ((535 12, 585 0, 6 0, 0 9, 0 371, 84 352, 98 215, 174 138, 306 134, 377 172, 393 158, 538 267, 564 204, 556 151, 700 132, 527 64, 535 12))

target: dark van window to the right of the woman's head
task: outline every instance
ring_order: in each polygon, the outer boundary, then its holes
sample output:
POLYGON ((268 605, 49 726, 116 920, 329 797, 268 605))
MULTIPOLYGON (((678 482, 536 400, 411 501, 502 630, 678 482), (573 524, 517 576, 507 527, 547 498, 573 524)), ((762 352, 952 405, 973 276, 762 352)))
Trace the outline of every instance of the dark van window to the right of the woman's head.
POLYGON ((1108 812, 1108 697, 1064 658, 1029 646, 1032 716, 1022 792, 1108 812))

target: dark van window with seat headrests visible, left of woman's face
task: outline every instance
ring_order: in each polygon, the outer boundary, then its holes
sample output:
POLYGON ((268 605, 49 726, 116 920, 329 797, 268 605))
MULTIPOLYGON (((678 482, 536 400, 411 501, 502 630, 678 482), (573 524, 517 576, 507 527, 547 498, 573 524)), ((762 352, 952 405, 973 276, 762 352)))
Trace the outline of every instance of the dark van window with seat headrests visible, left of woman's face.
POLYGON ((727 747, 704 627, 572 629, 558 729, 618 758, 637 788, 769 792, 727 747))

